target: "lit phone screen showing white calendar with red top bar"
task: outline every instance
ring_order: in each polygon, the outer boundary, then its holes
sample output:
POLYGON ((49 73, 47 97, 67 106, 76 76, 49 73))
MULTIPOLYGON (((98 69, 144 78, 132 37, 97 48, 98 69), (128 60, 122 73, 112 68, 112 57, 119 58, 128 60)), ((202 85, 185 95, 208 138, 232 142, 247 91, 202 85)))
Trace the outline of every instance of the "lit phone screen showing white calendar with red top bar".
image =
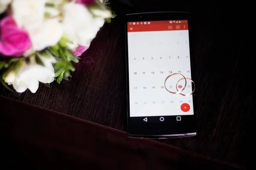
POLYGON ((130 117, 193 115, 188 20, 128 22, 127 31, 130 117))

